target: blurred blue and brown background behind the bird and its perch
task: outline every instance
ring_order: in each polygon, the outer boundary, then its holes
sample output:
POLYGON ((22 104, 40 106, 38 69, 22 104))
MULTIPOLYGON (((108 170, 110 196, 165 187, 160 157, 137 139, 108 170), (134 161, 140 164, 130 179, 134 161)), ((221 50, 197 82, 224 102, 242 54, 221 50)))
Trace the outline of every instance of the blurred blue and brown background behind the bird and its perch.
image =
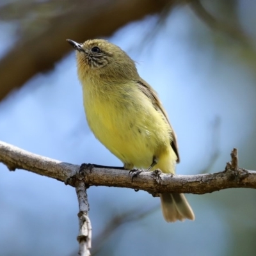
MULTIPOLYGON (((65 39, 106 38, 136 61, 177 133, 179 174, 256 169, 256 2, 1 0, 0 140, 73 164, 120 166, 83 110, 65 39)), ((88 189, 93 255, 255 255, 256 191, 187 195, 195 221, 166 223, 159 198, 88 189)), ((0 255, 77 255, 74 188, 0 164, 0 255)))

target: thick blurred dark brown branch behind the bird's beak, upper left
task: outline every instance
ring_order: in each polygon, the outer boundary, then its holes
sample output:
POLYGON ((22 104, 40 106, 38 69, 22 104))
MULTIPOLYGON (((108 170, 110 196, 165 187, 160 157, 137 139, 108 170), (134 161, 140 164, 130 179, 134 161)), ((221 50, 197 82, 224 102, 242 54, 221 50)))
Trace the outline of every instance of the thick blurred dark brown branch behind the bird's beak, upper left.
MULTIPOLYGON (((61 3, 61 1, 51 2, 61 3)), ((7 11, 12 8, 17 9, 18 3, 10 3, 1 7, 1 17, 4 16, 6 19, 6 13, 10 13, 7 11)), ((53 13, 54 15, 39 17, 48 26, 35 25, 34 28, 31 28, 35 30, 35 33, 32 33, 31 36, 28 33, 24 33, 25 36, 21 35, 14 47, 1 60, 0 100, 14 88, 22 86, 35 74, 49 70, 56 61, 63 58, 70 51, 70 46, 65 42, 67 38, 72 38, 77 42, 84 42, 89 38, 109 36, 116 29, 132 20, 142 19, 145 15, 161 12, 167 3, 171 6, 172 1, 74 0, 68 3, 67 1, 62 1, 62 3, 70 4, 70 6, 63 7, 60 4, 60 8, 58 8, 59 6, 57 5, 55 6, 56 12, 53 13), (63 8, 64 11, 61 12, 63 8)), ((51 3, 47 1, 45 6, 47 4, 51 3)), ((38 3, 38 5, 44 7, 44 3, 38 3)), ((33 8, 35 3, 29 6, 33 8)), ((21 9, 22 6, 20 6, 21 9)), ((44 13, 44 10, 41 11, 44 13)))

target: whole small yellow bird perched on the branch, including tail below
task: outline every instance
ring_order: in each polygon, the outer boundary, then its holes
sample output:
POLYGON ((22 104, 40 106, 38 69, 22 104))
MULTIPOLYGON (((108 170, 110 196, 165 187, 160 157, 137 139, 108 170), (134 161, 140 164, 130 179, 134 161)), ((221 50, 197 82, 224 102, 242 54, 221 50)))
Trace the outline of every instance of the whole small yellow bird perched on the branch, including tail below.
MULTIPOLYGON (((175 173, 177 139, 156 91, 143 80, 120 47, 102 39, 68 43, 76 49, 84 110, 95 137, 132 168, 175 173)), ((195 215, 183 194, 160 194, 167 222, 195 215)))

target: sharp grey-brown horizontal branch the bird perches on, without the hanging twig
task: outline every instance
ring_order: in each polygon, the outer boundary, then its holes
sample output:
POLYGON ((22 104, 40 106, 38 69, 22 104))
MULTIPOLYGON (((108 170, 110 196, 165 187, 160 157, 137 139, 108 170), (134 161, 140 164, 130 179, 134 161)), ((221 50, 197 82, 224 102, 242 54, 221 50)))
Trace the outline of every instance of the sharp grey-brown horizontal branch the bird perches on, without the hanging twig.
MULTIPOLYGON (((172 175, 161 173, 157 183, 155 172, 143 172, 131 181, 125 170, 108 168, 86 168, 84 182, 88 186, 113 186, 148 191, 149 193, 193 193, 204 194, 227 188, 256 188, 256 172, 237 168, 236 150, 232 161, 223 172, 198 175, 172 175)), ((76 186, 79 166, 38 156, 0 141, 0 162, 9 170, 24 169, 76 186)))

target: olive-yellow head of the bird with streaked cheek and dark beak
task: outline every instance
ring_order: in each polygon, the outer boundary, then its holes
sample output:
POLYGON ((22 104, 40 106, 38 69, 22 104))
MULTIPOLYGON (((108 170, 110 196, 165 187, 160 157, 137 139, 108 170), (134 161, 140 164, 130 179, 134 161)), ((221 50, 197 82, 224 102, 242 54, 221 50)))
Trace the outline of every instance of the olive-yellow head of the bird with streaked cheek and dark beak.
POLYGON ((78 74, 82 79, 90 76, 118 81, 138 76, 134 61, 115 44, 102 39, 86 40, 83 44, 67 41, 76 49, 78 74))

